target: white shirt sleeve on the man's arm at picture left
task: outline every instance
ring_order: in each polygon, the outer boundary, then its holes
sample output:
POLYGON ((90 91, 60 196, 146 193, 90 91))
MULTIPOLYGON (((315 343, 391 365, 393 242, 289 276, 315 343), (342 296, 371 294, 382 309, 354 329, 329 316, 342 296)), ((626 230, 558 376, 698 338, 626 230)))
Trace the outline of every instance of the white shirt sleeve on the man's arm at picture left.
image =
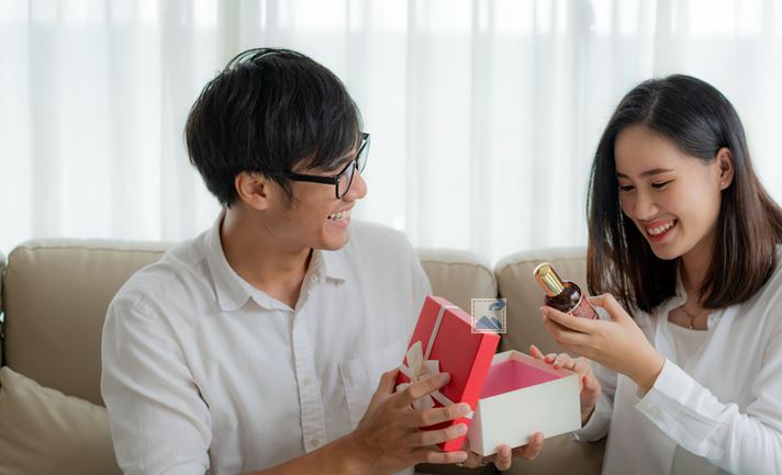
POLYGON ((109 307, 101 393, 125 475, 203 475, 209 410, 172 332, 141 302, 109 307))

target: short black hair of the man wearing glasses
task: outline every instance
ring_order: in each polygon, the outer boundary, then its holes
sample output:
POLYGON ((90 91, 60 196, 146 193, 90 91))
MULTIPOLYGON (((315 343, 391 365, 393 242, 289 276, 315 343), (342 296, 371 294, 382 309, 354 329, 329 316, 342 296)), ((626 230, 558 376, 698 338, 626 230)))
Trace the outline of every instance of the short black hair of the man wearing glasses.
POLYGON ((223 206, 238 195, 234 180, 257 172, 335 170, 360 137, 361 117, 345 84, 328 69, 289 49, 235 56, 201 91, 185 127, 190 162, 223 206))

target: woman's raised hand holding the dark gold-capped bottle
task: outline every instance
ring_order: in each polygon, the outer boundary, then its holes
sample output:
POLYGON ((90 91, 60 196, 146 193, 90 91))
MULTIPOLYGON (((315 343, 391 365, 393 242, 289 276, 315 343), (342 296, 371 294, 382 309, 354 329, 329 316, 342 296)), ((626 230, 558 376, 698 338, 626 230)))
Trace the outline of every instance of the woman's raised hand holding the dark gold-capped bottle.
POLYGON ((655 385, 664 358, 651 346, 633 318, 611 294, 589 297, 606 310, 610 320, 574 317, 544 306, 544 325, 562 349, 623 373, 645 393, 655 385))

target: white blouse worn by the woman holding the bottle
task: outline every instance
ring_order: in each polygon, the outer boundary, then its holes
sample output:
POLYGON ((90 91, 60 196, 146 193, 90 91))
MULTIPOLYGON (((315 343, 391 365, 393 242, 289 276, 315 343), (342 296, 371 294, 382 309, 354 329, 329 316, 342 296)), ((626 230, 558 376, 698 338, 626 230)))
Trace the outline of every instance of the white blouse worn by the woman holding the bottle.
POLYGON ((643 397, 630 378, 594 363, 603 395, 576 436, 594 441, 607 433, 603 474, 782 474, 778 262, 749 301, 708 316, 704 341, 685 362, 668 325, 668 313, 686 301, 681 282, 651 315, 637 313, 636 323, 666 358, 643 397))

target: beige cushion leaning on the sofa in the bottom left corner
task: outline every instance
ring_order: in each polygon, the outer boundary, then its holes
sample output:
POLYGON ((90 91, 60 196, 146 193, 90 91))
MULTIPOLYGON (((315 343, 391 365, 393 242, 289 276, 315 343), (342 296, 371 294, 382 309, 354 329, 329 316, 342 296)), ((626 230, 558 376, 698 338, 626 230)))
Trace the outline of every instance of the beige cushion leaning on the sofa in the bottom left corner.
POLYGON ((0 369, 0 473, 121 474, 105 408, 0 369))

